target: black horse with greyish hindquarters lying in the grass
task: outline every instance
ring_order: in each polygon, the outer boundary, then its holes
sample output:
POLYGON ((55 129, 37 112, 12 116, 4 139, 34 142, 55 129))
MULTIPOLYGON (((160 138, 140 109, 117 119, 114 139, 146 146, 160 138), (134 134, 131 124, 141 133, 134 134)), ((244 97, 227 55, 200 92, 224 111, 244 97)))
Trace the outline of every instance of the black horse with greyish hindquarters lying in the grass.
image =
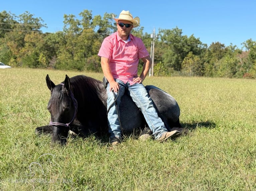
MULTIPOLYGON (((108 132, 107 92, 101 81, 83 75, 72 78, 66 75, 64 82, 55 85, 47 75, 46 84, 51 91, 47 106, 51 121, 49 125, 37 127, 37 134, 52 133, 52 142, 65 144, 69 130, 82 137, 108 132)), ((169 131, 180 128, 180 109, 176 100, 155 86, 145 88, 166 128, 169 131)), ((141 111, 128 95, 123 95, 119 110, 123 133, 145 126, 143 132, 148 132, 141 111)))

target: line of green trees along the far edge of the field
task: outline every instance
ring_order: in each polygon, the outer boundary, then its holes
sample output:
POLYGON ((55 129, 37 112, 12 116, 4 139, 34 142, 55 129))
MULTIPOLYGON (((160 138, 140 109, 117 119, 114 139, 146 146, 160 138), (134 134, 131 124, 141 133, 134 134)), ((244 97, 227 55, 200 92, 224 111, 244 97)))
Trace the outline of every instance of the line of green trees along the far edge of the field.
MULTIPOLYGON (((93 17, 92 11, 64 15, 63 31, 43 33, 39 17, 24 12, 0 12, 0 62, 12 67, 53 68, 101 72, 97 56, 105 37, 116 31, 112 14, 93 17)), ((150 52, 151 34, 143 27, 132 30, 150 52)), ((248 39, 239 49, 213 42, 204 44, 179 28, 159 29, 154 41, 154 75, 256 78, 256 42, 248 39)), ((142 68, 140 62, 140 70, 142 68)))

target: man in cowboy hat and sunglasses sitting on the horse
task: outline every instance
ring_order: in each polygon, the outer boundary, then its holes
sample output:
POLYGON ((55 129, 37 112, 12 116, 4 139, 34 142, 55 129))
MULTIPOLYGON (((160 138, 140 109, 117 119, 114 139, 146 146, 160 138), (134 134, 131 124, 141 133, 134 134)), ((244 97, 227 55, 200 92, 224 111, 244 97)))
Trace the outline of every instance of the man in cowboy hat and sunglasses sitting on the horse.
POLYGON ((110 143, 116 145, 121 140, 122 129, 114 99, 119 91, 116 100, 119 107, 125 90, 140 108, 156 140, 164 141, 180 134, 178 130, 167 131, 142 84, 151 66, 151 58, 142 40, 130 34, 133 28, 139 26, 139 17, 133 18, 129 11, 122 11, 119 18, 115 18, 114 15, 112 17, 117 22, 117 32, 104 39, 98 54, 101 57, 104 76, 109 82, 107 107, 110 143), (137 74, 139 59, 144 62, 140 76, 137 74))

